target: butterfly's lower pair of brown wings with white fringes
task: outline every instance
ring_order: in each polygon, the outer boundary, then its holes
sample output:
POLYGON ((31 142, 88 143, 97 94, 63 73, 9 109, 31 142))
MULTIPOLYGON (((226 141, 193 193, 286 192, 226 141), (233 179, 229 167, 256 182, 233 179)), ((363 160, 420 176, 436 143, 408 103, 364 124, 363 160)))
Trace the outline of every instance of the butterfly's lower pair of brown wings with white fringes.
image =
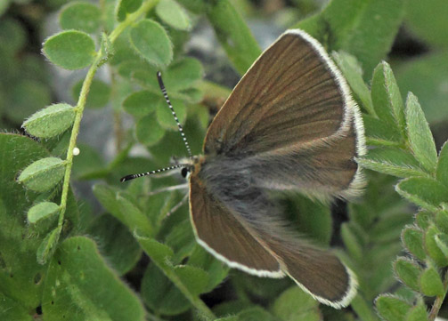
MULTIPOLYGON (((232 268, 259 277, 289 275, 318 301, 340 308, 354 296, 356 280, 329 251, 309 245, 282 227, 280 213, 260 190, 257 202, 239 212, 243 199, 219 200, 195 174, 190 178, 191 223, 200 245, 232 268)), ((212 188, 213 189, 213 188, 212 188)), ((257 191, 258 189, 252 189, 257 191)), ((218 194, 219 195, 219 194, 218 194)))

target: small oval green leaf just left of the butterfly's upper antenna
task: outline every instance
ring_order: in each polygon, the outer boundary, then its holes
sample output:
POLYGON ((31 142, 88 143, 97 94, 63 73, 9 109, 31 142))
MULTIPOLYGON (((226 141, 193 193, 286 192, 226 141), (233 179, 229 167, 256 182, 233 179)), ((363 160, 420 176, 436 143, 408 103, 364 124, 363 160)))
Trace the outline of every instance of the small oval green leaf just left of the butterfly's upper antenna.
POLYGON ((156 110, 159 100, 162 98, 150 91, 133 92, 123 101, 123 108, 135 118, 140 118, 156 110))

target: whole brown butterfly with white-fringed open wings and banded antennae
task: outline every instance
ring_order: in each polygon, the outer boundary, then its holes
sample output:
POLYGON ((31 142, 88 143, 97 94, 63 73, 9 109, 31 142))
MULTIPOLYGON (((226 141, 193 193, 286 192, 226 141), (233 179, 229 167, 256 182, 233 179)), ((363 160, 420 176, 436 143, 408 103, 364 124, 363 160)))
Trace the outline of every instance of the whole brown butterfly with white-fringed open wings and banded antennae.
MULTIPOLYGON (((160 75, 159 84, 175 116, 160 75)), ((122 181, 182 167, 191 225, 209 253, 259 277, 288 275, 331 307, 348 305, 354 273, 334 253, 291 233, 270 193, 295 190, 321 200, 361 195, 364 180, 354 161, 365 153, 361 114, 322 45, 299 29, 281 35, 215 116, 203 153, 122 181)))

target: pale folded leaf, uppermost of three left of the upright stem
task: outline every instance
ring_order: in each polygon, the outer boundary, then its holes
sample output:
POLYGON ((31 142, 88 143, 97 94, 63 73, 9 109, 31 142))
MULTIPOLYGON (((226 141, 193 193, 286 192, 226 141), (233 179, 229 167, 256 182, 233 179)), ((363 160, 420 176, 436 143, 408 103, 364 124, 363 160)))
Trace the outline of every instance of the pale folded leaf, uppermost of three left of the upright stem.
POLYGON ((30 116, 22 127, 33 136, 51 138, 65 132, 75 121, 75 115, 69 104, 54 104, 30 116))

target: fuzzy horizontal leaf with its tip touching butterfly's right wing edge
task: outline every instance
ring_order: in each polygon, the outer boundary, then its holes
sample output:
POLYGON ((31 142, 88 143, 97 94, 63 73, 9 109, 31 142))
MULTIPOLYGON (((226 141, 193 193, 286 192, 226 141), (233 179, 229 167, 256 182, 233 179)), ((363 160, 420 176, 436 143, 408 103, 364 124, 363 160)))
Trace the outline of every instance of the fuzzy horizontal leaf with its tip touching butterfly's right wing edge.
POLYGON ((357 157, 356 162, 372 171, 398 177, 427 175, 410 153, 398 148, 370 149, 366 156, 357 157))

